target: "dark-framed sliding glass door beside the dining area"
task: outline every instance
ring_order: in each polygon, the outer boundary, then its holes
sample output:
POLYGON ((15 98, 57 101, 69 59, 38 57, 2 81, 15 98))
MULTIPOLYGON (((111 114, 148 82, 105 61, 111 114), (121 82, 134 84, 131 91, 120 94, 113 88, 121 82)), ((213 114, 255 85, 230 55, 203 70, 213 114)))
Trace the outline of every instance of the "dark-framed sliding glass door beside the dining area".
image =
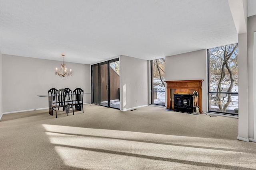
POLYGON ((92 65, 92 103, 120 109, 119 59, 92 65))

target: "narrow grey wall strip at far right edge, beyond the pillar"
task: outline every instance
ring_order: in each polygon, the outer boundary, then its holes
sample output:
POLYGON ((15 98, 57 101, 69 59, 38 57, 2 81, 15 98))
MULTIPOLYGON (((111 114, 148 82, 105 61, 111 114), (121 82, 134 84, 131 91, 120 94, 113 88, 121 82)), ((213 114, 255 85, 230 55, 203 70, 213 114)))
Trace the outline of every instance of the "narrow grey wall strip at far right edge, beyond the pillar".
MULTIPOLYGON (((248 137, 254 138, 254 42, 253 42, 253 33, 256 31, 256 16, 248 17, 248 29, 247 29, 247 60, 248 60, 248 137)), ((240 57, 240 56, 239 56, 240 57)), ((239 84, 239 88, 240 84, 239 84)), ((256 96, 255 96, 256 97, 256 96)), ((240 109, 239 109, 240 113, 240 109)), ((254 141, 256 142, 256 141, 254 141)))

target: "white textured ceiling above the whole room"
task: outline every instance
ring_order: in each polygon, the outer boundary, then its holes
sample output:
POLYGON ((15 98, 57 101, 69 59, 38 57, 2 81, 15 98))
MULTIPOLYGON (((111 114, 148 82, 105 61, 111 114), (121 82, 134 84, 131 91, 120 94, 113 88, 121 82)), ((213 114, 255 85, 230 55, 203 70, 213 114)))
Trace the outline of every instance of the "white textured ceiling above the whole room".
POLYGON ((0 0, 2 54, 92 64, 237 41, 227 0, 0 0))

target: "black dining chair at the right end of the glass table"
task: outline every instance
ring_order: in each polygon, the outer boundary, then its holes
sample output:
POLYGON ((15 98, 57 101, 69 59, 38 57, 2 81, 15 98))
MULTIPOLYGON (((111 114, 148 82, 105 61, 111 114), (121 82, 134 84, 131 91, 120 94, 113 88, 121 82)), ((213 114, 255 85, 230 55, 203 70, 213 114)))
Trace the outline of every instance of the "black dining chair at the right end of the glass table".
POLYGON ((74 106, 76 106, 76 109, 81 110, 82 107, 82 111, 84 113, 84 90, 82 90, 81 88, 76 88, 73 91, 73 100, 71 102, 68 102, 68 112, 69 109, 72 108, 73 110, 73 115, 74 115, 74 106))

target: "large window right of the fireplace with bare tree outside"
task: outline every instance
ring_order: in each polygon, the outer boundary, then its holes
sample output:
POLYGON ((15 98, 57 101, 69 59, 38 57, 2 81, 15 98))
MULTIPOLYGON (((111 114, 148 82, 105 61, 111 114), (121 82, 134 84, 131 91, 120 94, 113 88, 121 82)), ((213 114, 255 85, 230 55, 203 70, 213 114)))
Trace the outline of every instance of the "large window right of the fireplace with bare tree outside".
POLYGON ((238 44, 208 49, 208 111, 238 115, 238 44))

